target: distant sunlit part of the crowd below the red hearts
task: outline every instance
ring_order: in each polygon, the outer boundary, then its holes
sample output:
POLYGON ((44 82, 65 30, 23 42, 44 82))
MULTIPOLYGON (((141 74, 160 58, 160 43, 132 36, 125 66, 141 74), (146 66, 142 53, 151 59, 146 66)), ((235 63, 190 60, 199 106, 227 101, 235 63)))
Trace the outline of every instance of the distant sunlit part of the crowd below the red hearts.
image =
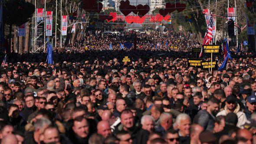
MULTIPOLYGON (((107 31, 108 32, 108 31, 107 31)), ((65 49, 58 49, 59 52, 85 52, 86 50, 106 50, 112 44, 112 50, 123 49, 130 50, 135 48, 140 50, 164 50, 164 51, 190 51, 189 48, 199 47, 200 43, 195 36, 191 34, 175 33, 173 30, 167 30, 166 33, 156 31, 135 32, 120 31, 118 33, 106 33, 103 30, 93 31, 86 34, 81 40, 76 40, 65 46, 65 49), (124 43, 131 43, 132 46, 126 47, 124 43), (82 48, 82 49, 81 49, 82 48)), ((57 49, 57 48, 56 48, 57 49)))

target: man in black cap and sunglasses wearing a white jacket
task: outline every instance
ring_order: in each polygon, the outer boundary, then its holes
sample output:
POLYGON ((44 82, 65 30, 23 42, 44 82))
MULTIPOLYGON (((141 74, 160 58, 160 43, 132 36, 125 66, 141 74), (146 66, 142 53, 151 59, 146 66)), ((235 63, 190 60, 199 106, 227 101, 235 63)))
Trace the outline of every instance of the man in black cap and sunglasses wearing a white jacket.
POLYGON ((237 103, 238 100, 236 96, 229 95, 226 98, 226 106, 223 111, 220 111, 216 116, 223 115, 226 116, 228 113, 233 112, 237 115, 238 122, 236 124, 237 127, 241 128, 243 124, 245 124, 247 118, 244 112, 241 111, 240 105, 237 103))

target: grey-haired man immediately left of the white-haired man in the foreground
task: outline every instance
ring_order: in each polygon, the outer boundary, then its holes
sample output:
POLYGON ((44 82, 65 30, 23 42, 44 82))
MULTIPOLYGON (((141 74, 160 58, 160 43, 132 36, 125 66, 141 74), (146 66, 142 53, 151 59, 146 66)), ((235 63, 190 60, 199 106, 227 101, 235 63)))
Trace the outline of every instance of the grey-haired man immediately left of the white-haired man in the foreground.
POLYGON ((172 127, 173 118, 170 113, 163 112, 159 118, 159 124, 156 126, 156 131, 160 132, 165 136, 167 130, 172 127))

